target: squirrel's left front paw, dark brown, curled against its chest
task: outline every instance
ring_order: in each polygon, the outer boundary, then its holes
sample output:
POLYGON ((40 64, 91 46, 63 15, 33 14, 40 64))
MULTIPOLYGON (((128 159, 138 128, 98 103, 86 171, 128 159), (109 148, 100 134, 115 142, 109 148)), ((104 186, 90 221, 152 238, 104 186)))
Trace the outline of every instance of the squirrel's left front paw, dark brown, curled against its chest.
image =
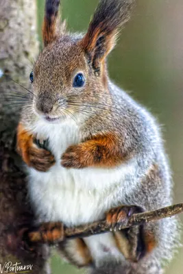
POLYGON ((47 150, 47 140, 34 140, 29 147, 29 165, 38 171, 48 171, 55 164, 54 156, 47 150))

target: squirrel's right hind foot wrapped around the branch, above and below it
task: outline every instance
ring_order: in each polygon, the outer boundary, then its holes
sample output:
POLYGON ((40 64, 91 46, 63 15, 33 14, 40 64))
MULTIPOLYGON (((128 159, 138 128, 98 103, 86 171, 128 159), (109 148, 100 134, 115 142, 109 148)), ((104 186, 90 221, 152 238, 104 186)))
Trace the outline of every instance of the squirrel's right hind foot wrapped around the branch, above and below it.
POLYGON ((147 229, 147 224, 120 229, 126 225, 130 216, 144 212, 139 206, 121 206, 113 208, 106 214, 106 222, 112 225, 117 245, 121 253, 127 260, 138 262, 154 247, 156 247, 156 237, 154 233, 147 229))

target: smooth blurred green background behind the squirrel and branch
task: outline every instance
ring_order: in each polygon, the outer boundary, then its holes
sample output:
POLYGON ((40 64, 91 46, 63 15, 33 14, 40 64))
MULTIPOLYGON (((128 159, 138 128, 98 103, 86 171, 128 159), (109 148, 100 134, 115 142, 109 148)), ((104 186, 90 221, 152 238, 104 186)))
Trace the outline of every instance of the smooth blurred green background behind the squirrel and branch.
MULTIPOLYGON (((38 32, 44 12, 38 2, 38 32)), ((62 18, 71 32, 84 32, 97 0, 62 0, 62 18)), ((183 1, 137 0, 130 23, 108 58, 110 77, 154 113, 162 125, 175 182, 175 202, 183 202, 183 1)), ((183 220, 183 218, 182 218, 183 220)), ((52 259, 53 274, 82 273, 52 259)), ((183 251, 167 269, 183 273, 183 251)))

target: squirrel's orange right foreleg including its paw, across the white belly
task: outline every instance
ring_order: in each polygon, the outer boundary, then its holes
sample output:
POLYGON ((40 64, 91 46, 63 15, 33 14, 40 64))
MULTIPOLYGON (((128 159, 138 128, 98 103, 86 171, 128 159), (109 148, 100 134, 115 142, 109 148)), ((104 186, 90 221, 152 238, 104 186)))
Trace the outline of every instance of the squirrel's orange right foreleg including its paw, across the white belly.
POLYGON ((69 147, 62 155, 61 164, 80 169, 86 166, 112 167, 122 161, 117 137, 106 134, 69 147))

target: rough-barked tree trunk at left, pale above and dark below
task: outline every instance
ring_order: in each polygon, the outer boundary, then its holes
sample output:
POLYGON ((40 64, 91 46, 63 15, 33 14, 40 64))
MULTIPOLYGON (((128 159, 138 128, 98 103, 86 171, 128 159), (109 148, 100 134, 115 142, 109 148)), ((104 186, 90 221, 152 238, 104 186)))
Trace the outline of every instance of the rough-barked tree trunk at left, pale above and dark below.
POLYGON ((5 262, 33 264, 32 273, 49 273, 46 247, 25 251, 16 246, 17 227, 25 223, 31 225, 34 216, 26 201, 22 162, 15 152, 20 108, 8 100, 10 92, 21 89, 11 79, 19 84, 28 83, 25 75, 32 71, 29 59, 38 53, 36 1, 1 0, 0 45, 0 273, 7 270, 1 270, 5 262))

